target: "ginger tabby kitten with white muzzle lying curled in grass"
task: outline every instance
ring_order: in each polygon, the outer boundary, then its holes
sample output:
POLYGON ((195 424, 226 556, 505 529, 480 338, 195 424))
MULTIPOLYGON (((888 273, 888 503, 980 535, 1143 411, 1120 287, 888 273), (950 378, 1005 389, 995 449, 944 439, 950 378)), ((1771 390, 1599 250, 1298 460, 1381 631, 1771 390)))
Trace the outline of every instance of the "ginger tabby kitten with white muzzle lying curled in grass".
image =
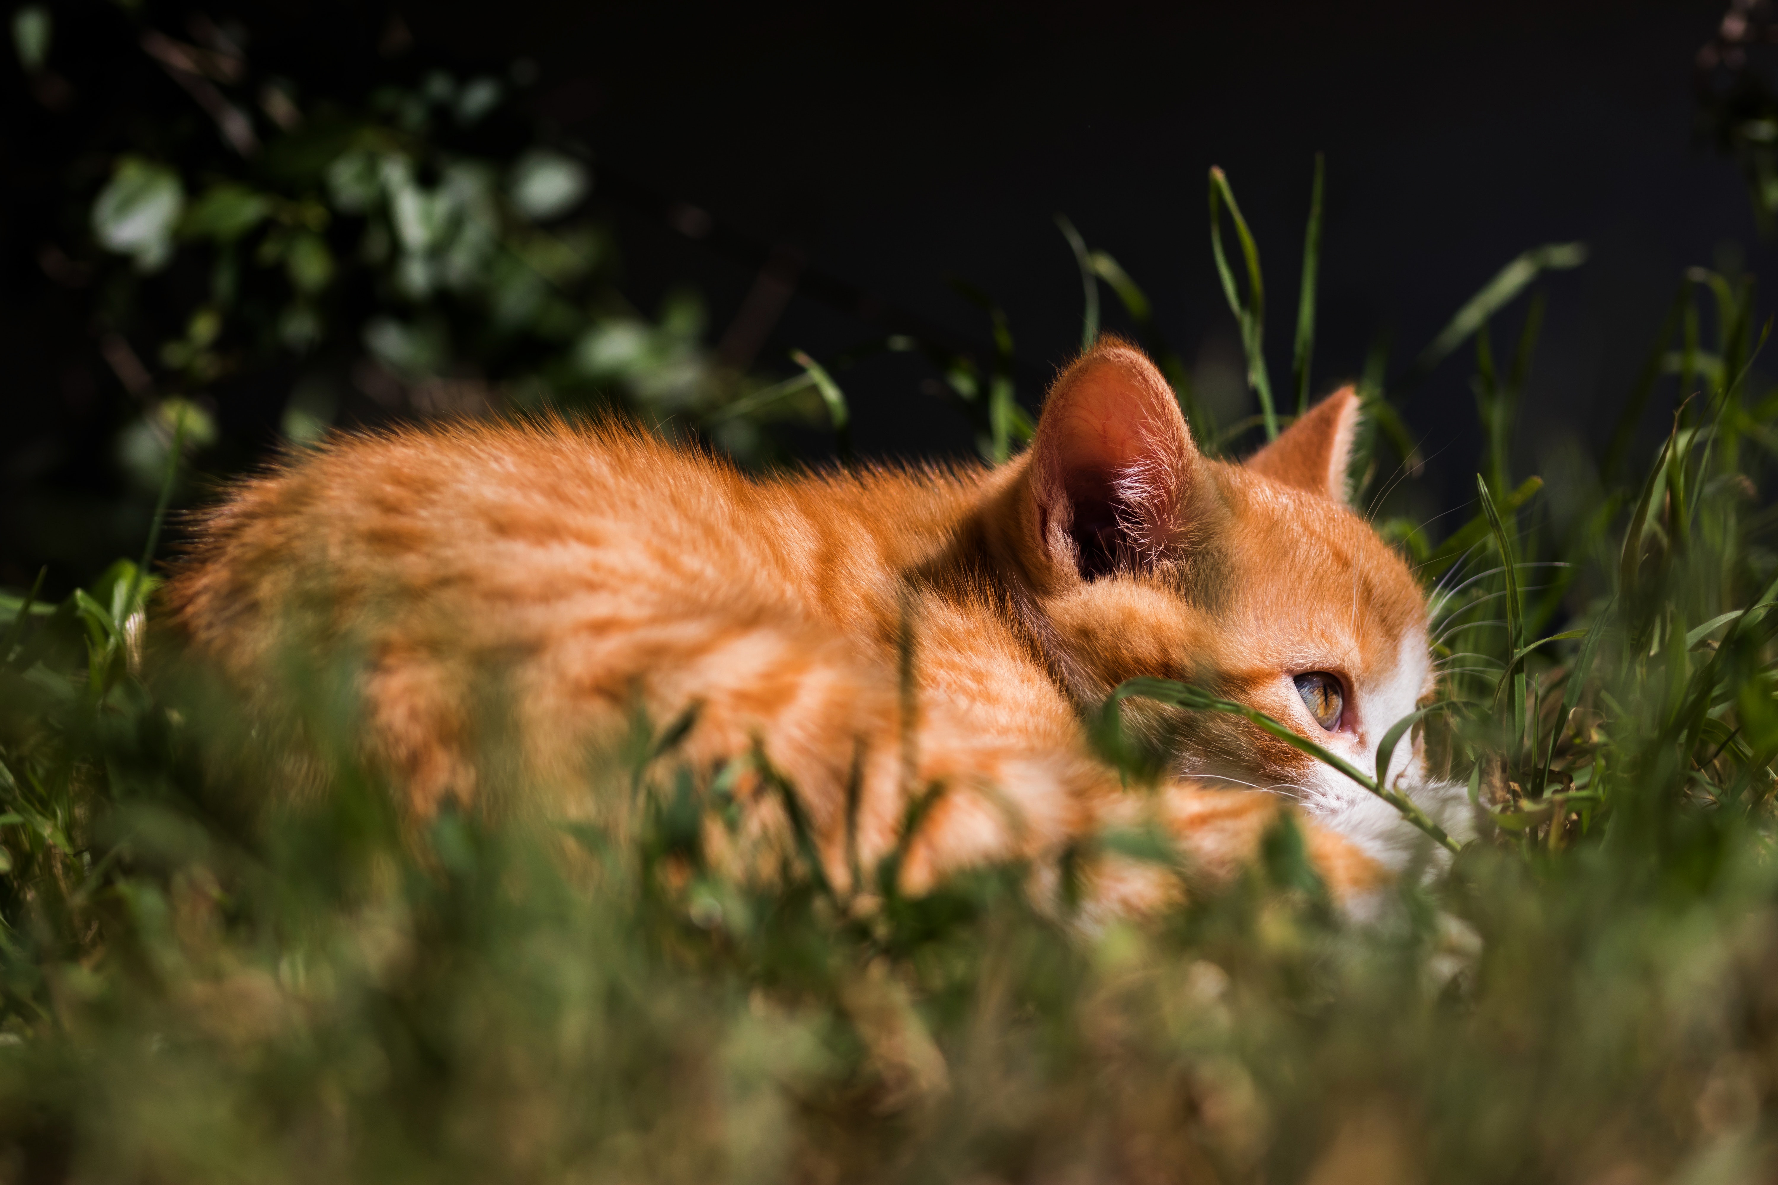
MULTIPOLYGON (((1344 389, 1245 465, 1207 460, 1159 371, 1104 339, 999 467, 756 480, 622 426, 340 435, 201 517, 165 604, 265 711, 281 656, 357 663, 364 755, 420 817, 496 792, 477 730, 498 688, 512 782, 558 796, 541 810, 597 814, 589 755, 640 705, 692 721, 674 757, 704 783, 763 753, 843 890, 853 869, 875 883, 937 787, 909 892, 983 862, 1054 871, 1134 819, 1229 876, 1300 810, 1350 901, 1414 835, 1389 807, 1246 721, 1154 705, 1172 776, 1124 787, 1083 712, 1129 677, 1181 679, 1374 766, 1433 672, 1419 585, 1344 505, 1357 416, 1344 389)), ((1422 773, 1401 744, 1390 780, 1422 773)), ((740 796, 743 831, 784 842, 779 791, 740 796)), ((1109 911, 1173 885, 1111 858, 1086 879, 1109 911)))

